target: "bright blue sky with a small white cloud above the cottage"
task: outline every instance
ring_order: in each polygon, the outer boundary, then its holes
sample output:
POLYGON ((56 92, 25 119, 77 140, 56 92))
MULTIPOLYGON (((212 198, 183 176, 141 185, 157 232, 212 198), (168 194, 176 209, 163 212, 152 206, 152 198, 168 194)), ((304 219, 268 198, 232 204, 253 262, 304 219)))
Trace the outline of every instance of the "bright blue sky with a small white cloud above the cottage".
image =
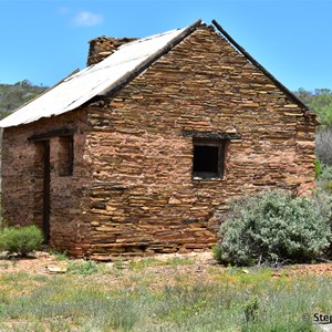
POLYGON ((0 0, 0 83, 53 85, 85 68, 87 41, 216 19, 294 91, 332 89, 332 0, 0 0))

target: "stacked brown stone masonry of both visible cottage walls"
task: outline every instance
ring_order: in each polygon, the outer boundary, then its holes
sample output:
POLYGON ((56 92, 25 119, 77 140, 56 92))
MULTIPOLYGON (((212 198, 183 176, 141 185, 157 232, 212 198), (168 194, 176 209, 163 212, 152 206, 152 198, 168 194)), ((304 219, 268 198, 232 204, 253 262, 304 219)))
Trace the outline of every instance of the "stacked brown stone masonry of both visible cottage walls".
POLYGON ((70 127, 72 176, 56 173, 50 141, 52 247, 97 260, 210 248, 230 199, 313 180, 314 118, 304 111, 203 27, 116 94, 6 131, 4 217, 41 225, 40 153, 27 137, 70 127), (221 179, 193 178, 184 132, 238 134, 221 179))

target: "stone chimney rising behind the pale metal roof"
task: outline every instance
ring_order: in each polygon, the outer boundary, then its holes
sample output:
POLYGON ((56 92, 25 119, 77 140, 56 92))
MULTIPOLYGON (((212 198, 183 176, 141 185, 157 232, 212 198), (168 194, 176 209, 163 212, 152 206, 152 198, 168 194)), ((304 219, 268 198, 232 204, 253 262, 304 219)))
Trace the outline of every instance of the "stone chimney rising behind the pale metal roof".
POLYGON ((90 43, 87 65, 101 62, 112 53, 114 53, 121 45, 126 44, 137 38, 108 38, 105 35, 95 38, 90 43))

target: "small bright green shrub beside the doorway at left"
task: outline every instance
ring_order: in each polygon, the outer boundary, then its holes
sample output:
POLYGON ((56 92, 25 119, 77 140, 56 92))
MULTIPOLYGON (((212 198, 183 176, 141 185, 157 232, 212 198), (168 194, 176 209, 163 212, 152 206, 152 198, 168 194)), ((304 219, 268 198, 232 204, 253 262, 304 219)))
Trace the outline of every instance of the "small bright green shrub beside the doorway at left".
POLYGON ((43 242, 42 231, 37 226, 9 227, 0 231, 0 249, 25 256, 38 250, 43 242))

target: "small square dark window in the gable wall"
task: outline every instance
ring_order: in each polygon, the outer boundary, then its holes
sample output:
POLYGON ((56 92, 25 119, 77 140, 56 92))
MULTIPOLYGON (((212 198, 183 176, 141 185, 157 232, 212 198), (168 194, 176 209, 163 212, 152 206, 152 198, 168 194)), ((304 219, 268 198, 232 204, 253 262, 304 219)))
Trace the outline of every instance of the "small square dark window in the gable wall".
POLYGON ((194 177, 221 178, 224 151, 224 141, 194 139, 194 177))

